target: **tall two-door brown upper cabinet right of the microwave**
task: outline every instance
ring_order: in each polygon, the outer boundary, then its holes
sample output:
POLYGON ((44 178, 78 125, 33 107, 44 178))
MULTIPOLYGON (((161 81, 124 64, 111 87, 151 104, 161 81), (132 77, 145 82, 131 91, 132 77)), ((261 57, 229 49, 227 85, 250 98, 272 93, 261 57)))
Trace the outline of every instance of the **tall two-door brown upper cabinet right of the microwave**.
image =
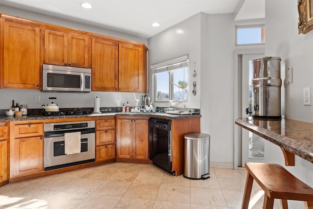
POLYGON ((92 38, 92 91, 146 93, 146 63, 143 46, 92 38))

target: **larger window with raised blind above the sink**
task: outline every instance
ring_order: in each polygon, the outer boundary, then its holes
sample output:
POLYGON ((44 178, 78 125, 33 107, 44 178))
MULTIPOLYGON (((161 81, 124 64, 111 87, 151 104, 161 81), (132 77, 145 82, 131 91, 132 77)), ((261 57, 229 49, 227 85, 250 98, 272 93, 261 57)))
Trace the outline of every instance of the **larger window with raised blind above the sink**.
POLYGON ((188 102, 188 56, 151 66, 154 79, 154 101, 188 102))

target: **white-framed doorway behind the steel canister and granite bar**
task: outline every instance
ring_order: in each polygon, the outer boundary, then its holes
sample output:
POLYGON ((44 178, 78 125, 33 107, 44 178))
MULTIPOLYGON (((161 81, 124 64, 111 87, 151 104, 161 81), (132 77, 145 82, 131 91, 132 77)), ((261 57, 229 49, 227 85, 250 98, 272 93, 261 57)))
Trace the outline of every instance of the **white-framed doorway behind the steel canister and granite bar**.
MULTIPOLYGON (((264 49, 234 51, 234 120, 248 117, 251 103, 252 60, 263 57, 264 49)), ((234 169, 246 162, 264 161, 264 140, 234 123, 234 169), (249 149, 250 148, 250 149, 249 149)))

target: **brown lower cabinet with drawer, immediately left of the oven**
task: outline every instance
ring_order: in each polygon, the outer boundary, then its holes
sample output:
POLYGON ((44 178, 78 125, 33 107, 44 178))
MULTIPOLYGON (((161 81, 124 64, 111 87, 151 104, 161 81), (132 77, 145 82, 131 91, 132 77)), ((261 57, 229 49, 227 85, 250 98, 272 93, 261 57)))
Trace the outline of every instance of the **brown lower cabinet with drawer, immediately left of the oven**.
MULTIPOLYGON (((20 121, 21 122, 21 121, 20 121)), ((43 123, 11 123, 10 178, 43 171, 43 123)))

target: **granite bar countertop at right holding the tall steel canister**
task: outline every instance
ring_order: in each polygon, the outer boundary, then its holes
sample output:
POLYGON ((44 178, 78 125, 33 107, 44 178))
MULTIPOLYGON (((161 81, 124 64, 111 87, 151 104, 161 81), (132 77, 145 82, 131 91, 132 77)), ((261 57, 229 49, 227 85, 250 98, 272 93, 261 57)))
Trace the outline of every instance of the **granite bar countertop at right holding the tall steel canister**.
POLYGON ((235 123, 281 148, 313 163, 313 123, 243 117, 235 123))

